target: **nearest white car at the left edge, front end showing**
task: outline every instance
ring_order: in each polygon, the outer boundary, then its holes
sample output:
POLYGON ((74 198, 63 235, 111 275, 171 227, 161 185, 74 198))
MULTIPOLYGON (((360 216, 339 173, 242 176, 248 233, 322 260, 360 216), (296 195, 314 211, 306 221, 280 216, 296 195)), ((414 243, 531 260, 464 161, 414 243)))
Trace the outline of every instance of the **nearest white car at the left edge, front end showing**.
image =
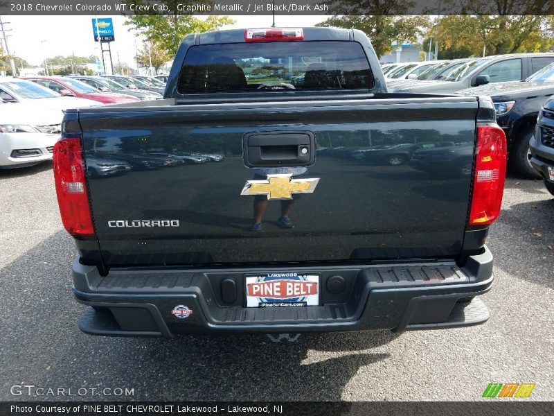
POLYGON ((0 101, 0 168, 33 166, 52 159, 61 126, 60 110, 0 101))

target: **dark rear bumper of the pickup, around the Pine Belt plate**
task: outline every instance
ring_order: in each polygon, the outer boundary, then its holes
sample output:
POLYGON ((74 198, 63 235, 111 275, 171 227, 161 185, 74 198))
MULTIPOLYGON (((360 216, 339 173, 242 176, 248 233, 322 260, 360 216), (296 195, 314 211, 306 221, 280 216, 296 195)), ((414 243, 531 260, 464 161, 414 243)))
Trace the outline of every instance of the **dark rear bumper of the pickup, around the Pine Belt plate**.
POLYGON ((463 268, 440 261, 294 271, 321 275, 321 306, 244 307, 244 275, 259 269, 118 269, 100 277, 96 268, 77 260, 75 297, 95 307, 83 313, 79 327, 92 335, 173 338, 187 333, 439 329, 480 324, 489 317, 483 302, 472 300, 492 286, 492 254, 486 248, 463 268), (340 293, 331 293, 326 282, 337 275, 345 285, 340 293), (188 308, 186 318, 172 313, 177 305, 188 308))

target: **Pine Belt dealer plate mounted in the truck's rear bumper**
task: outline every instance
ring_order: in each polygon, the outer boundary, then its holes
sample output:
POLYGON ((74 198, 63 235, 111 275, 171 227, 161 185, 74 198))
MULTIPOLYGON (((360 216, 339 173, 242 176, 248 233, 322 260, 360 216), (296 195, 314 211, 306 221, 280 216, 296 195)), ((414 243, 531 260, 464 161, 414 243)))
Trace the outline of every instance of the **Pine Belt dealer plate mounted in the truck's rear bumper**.
POLYGON ((301 273, 266 273, 246 277, 247 306, 316 306, 319 305, 319 275, 301 273))

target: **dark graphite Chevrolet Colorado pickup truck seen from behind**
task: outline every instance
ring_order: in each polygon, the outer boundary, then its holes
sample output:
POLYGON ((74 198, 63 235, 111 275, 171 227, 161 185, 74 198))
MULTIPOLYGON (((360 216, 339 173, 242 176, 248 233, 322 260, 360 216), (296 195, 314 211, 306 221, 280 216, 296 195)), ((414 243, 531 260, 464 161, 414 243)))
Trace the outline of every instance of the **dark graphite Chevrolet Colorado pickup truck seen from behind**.
POLYGON ((361 31, 188 35, 164 99, 65 114, 54 171, 73 293, 91 306, 80 329, 294 340, 484 322, 506 171, 494 116, 490 98, 388 94, 361 31), (469 175, 352 157, 445 142, 469 175), (135 162, 91 177, 89 159, 135 162))

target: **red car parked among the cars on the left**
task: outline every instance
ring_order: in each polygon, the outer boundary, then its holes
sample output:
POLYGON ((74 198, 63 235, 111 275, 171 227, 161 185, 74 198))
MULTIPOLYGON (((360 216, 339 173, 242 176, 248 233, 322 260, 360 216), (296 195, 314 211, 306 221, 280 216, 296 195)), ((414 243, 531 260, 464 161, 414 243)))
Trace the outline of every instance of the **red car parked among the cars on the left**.
POLYGON ((125 94, 100 92, 98 89, 82 83, 80 80, 76 80, 75 78, 64 76, 28 76, 22 79, 30 80, 33 81, 33 83, 50 88, 62 96, 87 98, 87 100, 98 101, 102 104, 122 104, 139 101, 139 98, 125 94))

